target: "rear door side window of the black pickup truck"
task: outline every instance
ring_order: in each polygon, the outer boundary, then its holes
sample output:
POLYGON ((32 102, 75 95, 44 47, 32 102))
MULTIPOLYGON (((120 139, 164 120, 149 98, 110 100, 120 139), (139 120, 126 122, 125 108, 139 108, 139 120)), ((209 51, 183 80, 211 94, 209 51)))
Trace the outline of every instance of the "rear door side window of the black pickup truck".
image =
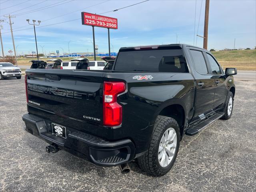
POLYGON ((208 74, 206 62, 204 60, 204 55, 202 51, 190 50, 192 60, 194 61, 194 67, 196 71, 200 74, 208 74))

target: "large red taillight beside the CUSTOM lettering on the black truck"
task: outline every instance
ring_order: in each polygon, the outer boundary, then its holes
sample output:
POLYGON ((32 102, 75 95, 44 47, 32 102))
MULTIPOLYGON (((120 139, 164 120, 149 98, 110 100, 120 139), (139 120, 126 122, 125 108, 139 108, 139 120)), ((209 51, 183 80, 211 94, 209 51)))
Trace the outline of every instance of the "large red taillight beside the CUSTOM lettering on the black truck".
POLYGON ((117 102, 117 96, 125 92, 124 82, 104 82, 103 86, 103 125, 118 126, 122 123, 122 106, 117 102))

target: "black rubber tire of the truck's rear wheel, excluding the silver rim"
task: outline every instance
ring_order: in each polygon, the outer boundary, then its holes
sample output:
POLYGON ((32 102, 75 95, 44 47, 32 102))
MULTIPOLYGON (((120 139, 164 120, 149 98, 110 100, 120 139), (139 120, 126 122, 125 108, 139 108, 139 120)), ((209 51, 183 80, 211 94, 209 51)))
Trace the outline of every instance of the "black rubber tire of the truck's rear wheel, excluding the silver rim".
POLYGON ((153 176, 163 176, 172 168, 180 146, 180 129, 179 125, 173 118, 166 116, 158 116, 156 119, 156 123, 154 125, 154 130, 150 142, 150 147, 146 154, 140 156, 138 158, 138 164, 142 170, 151 174, 153 176), (162 167, 158 161, 158 147, 160 145, 160 140, 164 134, 164 132, 168 128, 174 128, 177 136, 177 144, 176 150, 174 152, 174 156, 170 162, 170 164, 166 167, 162 167))

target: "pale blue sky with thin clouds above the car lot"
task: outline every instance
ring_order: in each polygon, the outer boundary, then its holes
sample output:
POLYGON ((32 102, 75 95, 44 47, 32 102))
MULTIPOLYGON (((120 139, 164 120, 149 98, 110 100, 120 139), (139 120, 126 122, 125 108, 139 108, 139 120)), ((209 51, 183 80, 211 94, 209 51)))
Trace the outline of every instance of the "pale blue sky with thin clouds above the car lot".
MULTIPOLYGON (((81 24, 81 12, 101 14, 142 1, 0 0, 0 19, 8 21, 4 14, 16 15, 12 18, 12 28, 19 54, 36 51, 34 30, 26 19, 41 20, 40 26, 45 26, 36 28, 39 53, 42 52, 41 46, 44 46, 46 54, 56 50, 62 53, 62 48, 68 52, 69 41, 70 52, 93 52, 92 27, 81 24), (73 13, 67 14, 70 12, 73 13), (65 22, 68 20, 74 21, 65 22), (59 22, 65 23, 46 26, 59 22)), ((196 10, 195 34, 200 16, 198 34, 203 36, 204 8, 205 0, 150 0, 103 15, 118 19, 118 29, 110 30, 114 52, 124 46, 176 43, 176 34, 178 43, 202 47, 202 38, 198 37, 197 43, 196 36, 194 40, 194 22, 196 10)), ((7 54, 8 50, 13 50, 10 25, 6 22, 1 24, 4 52, 7 54)), ((208 50, 233 48, 234 38, 236 48, 256 46, 256 0, 210 0, 208 50)), ((95 39, 98 52, 108 52, 107 29, 96 27, 95 39)))

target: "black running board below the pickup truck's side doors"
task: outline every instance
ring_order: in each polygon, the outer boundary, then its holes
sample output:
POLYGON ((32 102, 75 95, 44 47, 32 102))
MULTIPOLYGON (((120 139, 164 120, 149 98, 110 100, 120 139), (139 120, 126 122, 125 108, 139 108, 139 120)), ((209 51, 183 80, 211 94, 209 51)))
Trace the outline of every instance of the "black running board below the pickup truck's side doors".
POLYGON ((197 122, 196 124, 189 126, 185 134, 189 136, 198 134, 200 131, 202 131, 204 128, 206 128, 208 125, 212 124, 214 121, 218 120, 222 116, 223 113, 214 113, 213 115, 204 118, 200 122, 197 122))

